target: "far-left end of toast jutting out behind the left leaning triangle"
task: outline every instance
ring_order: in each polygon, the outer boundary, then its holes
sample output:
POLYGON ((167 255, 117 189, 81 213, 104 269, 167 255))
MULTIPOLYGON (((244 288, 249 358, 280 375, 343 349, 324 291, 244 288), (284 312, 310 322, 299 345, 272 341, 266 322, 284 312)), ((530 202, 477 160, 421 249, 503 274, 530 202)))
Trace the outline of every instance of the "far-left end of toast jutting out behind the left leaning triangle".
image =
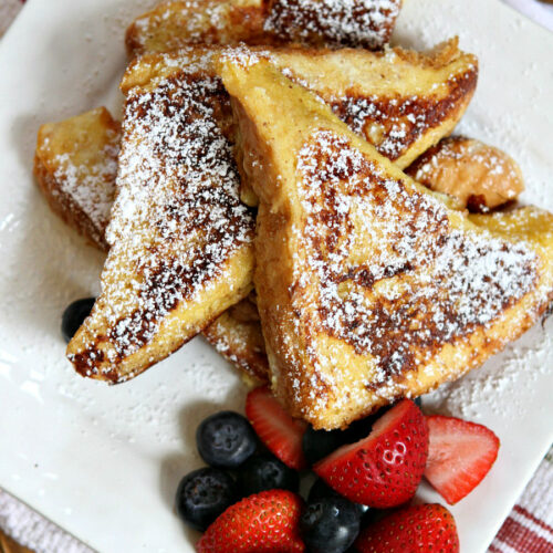
POLYGON ((98 107, 42 125, 34 153, 34 176, 50 208, 103 250, 115 198, 119 135, 119 124, 98 107))

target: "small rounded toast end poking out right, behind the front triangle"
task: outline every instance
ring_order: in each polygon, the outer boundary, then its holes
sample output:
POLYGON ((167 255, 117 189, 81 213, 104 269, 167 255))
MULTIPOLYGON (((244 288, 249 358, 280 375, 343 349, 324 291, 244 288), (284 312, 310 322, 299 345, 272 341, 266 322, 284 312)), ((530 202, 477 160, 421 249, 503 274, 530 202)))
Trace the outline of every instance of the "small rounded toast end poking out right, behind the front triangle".
POLYGON ((457 197, 471 211, 487 211, 524 190, 517 161, 504 152, 463 136, 440 140, 406 173, 432 190, 457 197))

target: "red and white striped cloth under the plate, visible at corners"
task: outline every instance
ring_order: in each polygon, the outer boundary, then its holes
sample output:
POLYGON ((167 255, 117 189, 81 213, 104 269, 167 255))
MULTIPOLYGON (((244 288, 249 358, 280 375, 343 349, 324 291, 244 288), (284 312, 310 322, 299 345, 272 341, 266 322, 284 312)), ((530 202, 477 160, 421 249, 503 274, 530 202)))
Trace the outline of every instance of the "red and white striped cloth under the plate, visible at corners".
MULTIPOLYGON (((504 0, 553 31, 553 7, 536 0, 504 0)), ((0 36, 24 0, 0 0, 0 36)), ((0 490, 0 529, 39 553, 85 553, 63 530, 0 490)), ((553 553, 553 447, 514 505, 489 553, 553 553)), ((470 553, 470 552, 467 552, 470 553)))

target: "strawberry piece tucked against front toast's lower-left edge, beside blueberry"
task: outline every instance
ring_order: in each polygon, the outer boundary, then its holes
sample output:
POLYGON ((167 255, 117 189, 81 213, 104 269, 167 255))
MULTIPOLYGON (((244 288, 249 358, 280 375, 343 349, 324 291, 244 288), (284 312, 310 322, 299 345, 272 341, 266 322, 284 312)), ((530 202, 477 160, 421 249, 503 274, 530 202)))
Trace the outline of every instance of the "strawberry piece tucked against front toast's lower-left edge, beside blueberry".
POLYGON ((292 418, 268 387, 255 388, 246 399, 246 416, 261 441, 291 469, 306 467, 302 438, 307 425, 292 418))

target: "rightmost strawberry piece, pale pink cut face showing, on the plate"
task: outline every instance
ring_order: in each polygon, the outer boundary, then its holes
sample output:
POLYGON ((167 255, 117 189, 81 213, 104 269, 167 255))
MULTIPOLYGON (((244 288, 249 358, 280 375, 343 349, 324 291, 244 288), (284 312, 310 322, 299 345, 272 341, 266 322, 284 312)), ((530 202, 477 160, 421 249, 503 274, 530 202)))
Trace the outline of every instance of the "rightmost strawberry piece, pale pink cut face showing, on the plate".
POLYGON ((488 474, 498 458, 499 438, 486 426, 455 417, 426 420, 430 446, 425 477, 452 505, 488 474))

